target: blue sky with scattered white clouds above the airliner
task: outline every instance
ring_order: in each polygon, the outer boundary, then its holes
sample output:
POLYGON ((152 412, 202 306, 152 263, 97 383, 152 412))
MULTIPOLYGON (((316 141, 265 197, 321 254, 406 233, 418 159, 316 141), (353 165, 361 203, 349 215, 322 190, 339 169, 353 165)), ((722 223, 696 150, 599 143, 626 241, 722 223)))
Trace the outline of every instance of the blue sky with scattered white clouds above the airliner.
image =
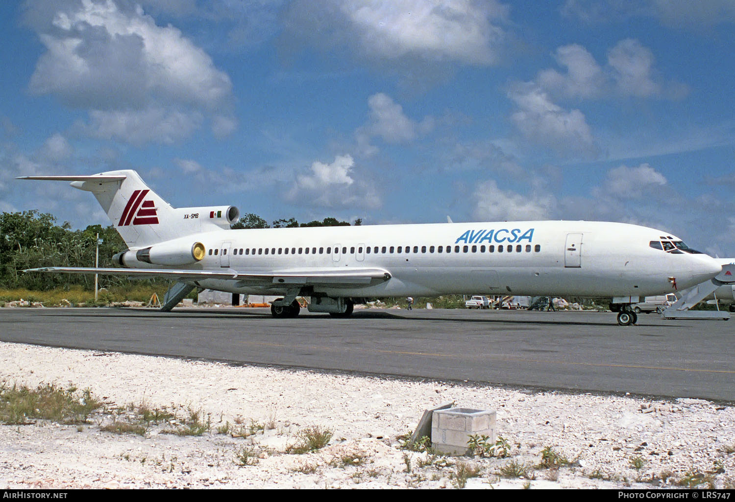
POLYGON ((0 2, 0 211, 588 219, 735 256, 731 0, 0 2))

